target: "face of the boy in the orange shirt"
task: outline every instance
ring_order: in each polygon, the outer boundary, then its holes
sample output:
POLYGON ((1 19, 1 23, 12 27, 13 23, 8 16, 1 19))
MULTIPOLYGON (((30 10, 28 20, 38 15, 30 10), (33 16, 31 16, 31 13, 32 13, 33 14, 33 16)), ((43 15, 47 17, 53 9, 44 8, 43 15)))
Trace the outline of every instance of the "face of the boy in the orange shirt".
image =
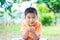
POLYGON ((37 15, 34 14, 34 13, 28 13, 25 16, 25 19, 26 19, 28 25, 31 25, 31 24, 33 24, 37 20, 37 15))

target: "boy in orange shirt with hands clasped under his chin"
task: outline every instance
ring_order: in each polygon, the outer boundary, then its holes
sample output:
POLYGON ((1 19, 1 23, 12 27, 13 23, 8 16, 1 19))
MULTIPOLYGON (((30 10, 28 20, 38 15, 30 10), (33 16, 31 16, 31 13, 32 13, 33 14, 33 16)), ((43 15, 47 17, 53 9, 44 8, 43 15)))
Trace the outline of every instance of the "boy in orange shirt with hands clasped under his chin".
POLYGON ((25 21, 22 23, 22 37, 24 40, 39 40, 41 23, 37 21, 37 11, 33 7, 25 10, 25 21))

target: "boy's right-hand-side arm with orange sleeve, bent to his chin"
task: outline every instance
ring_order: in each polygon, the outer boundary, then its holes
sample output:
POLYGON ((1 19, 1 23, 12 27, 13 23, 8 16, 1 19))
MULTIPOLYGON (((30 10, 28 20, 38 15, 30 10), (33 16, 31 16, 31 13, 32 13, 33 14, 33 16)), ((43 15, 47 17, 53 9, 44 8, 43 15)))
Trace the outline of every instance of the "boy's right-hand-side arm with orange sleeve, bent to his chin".
POLYGON ((42 24, 40 23, 35 29, 31 27, 31 32, 34 40, 39 40, 42 33, 42 24))

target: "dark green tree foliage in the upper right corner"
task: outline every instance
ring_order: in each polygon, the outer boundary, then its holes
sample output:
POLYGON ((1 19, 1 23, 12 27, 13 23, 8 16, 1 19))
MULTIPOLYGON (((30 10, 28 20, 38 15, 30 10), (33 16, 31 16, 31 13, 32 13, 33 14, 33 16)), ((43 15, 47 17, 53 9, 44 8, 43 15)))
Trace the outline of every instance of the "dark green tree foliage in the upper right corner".
POLYGON ((60 0, 38 0, 37 3, 45 3, 50 10, 54 12, 60 12, 60 0))

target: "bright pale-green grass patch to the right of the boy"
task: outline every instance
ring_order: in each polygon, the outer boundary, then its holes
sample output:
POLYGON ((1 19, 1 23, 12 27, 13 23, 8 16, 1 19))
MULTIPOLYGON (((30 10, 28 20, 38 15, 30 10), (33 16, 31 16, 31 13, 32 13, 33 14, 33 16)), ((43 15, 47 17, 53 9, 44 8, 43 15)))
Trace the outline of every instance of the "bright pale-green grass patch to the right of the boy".
POLYGON ((43 26, 42 27, 43 36, 60 36, 60 27, 59 26, 43 26))

